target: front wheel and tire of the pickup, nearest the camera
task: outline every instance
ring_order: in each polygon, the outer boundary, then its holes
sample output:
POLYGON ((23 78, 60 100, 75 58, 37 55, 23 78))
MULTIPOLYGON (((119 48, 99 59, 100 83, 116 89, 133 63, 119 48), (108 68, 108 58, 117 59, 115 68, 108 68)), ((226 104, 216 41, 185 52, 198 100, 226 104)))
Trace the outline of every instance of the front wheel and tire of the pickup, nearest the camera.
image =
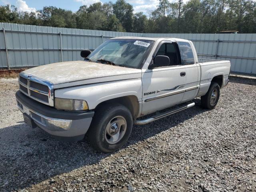
POLYGON ((88 131, 88 140, 95 150, 113 152, 121 148, 132 132, 133 118, 121 104, 106 104, 98 108, 88 131))

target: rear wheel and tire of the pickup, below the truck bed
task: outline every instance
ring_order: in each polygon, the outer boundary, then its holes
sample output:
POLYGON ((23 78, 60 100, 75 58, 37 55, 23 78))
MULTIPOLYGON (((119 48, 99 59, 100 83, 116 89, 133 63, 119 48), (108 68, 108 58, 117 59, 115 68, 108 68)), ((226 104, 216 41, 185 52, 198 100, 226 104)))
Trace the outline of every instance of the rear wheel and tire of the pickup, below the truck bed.
POLYGON ((216 82, 211 82, 208 92, 201 96, 201 105, 206 109, 214 109, 220 98, 220 86, 216 82))

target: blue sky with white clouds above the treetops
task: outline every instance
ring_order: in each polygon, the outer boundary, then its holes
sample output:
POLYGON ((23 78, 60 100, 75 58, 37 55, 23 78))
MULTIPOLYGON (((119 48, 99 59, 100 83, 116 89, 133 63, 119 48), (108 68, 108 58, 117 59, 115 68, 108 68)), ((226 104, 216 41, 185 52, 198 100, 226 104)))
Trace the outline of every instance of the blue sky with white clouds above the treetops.
MULTIPOLYGON (((71 10, 76 12, 80 6, 96 3, 96 2, 109 2, 113 3, 116 0, 0 0, 0 5, 12 4, 15 5, 18 10, 35 12, 36 10, 42 9, 44 6, 56 6, 58 8, 71 10)), ((187 2, 188 0, 183 0, 187 2)), ((147 13, 148 10, 156 9, 158 0, 126 0, 126 2, 132 4, 134 12, 147 13)), ((170 2, 178 2, 178 0, 170 0, 170 2)))

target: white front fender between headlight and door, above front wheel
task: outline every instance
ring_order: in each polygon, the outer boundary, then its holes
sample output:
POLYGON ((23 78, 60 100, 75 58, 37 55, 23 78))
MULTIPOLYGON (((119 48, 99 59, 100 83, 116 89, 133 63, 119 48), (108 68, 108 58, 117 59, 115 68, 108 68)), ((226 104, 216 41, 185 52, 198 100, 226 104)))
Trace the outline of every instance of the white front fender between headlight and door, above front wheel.
POLYGON ((136 96, 139 102, 141 101, 142 81, 140 78, 75 86, 58 89, 54 92, 54 96, 57 98, 85 100, 90 110, 101 102, 132 95, 136 96))

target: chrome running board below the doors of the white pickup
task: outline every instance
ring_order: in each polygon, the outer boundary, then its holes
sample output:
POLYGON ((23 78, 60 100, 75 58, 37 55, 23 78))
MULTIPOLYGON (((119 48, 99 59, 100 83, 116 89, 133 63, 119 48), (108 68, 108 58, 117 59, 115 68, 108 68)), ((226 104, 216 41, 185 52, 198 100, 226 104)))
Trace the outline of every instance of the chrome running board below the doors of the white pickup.
POLYGON ((182 106, 182 107, 180 107, 180 108, 178 108, 178 109, 176 108, 176 109, 174 109, 174 110, 166 111, 166 112, 163 112, 163 113, 154 115, 154 116, 152 116, 152 117, 150 117, 150 118, 147 118, 147 119, 136 120, 136 121, 134 122, 134 124, 136 124, 136 125, 144 125, 144 124, 147 124, 147 123, 151 123, 151 122, 153 122, 153 121, 155 121, 155 120, 158 120, 158 119, 164 118, 164 117, 166 117, 166 116, 172 115, 172 114, 174 114, 174 113, 183 111, 183 110, 185 110, 185 109, 187 109, 187 108, 190 108, 190 107, 192 107, 192 106, 194 106, 194 105, 195 105, 195 103, 192 102, 192 103, 190 103, 190 104, 188 104, 188 105, 185 105, 185 106, 182 106))

